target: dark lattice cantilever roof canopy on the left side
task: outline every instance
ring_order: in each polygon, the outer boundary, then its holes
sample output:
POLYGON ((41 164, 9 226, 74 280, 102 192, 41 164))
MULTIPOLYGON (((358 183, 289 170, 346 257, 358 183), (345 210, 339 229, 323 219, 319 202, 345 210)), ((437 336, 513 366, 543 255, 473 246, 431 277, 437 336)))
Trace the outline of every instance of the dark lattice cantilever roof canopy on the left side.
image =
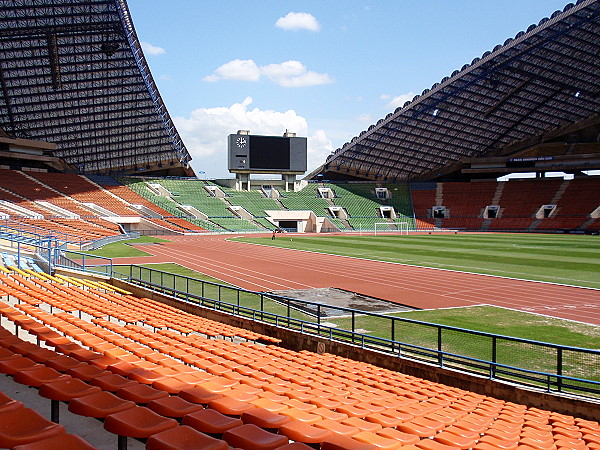
POLYGON ((186 170, 125 0, 4 0, 0 23, 7 135, 54 142, 87 173, 186 170))

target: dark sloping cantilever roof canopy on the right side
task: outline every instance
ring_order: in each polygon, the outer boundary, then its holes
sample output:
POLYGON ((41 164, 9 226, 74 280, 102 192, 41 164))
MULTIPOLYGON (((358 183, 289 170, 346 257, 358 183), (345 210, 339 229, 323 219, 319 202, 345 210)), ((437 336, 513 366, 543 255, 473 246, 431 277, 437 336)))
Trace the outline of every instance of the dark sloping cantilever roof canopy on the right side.
POLYGON ((422 179, 584 119, 597 125, 599 25, 599 0, 567 5, 388 114, 309 177, 422 179))

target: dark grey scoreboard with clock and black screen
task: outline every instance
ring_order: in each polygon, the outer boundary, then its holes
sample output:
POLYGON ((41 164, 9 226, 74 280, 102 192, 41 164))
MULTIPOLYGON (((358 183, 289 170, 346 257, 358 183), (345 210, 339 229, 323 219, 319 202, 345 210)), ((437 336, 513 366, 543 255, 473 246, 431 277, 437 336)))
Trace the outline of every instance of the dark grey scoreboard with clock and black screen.
POLYGON ((306 138, 230 134, 229 171, 306 172, 306 138))

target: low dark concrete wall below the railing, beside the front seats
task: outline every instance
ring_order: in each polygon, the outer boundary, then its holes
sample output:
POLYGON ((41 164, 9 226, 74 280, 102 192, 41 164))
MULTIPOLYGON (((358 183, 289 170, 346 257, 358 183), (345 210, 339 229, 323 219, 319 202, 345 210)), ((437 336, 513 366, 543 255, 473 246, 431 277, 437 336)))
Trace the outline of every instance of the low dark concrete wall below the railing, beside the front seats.
POLYGON ((285 330, 273 325, 255 322, 250 319, 232 316, 220 311, 191 305, 165 295, 147 291, 121 280, 112 279, 111 282, 117 287, 133 292, 136 296, 151 298, 207 319, 216 320, 228 325, 281 339, 282 342, 280 345, 290 350, 309 350, 315 353, 332 353, 407 375, 413 375, 437 383, 454 386, 478 394, 489 395, 490 397, 514 403, 524 404, 530 407, 551 410, 589 420, 598 420, 598 417, 600 417, 600 400, 598 402, 585 401, 568 395, 549 394, 542 390, 527 389, 509 383, 501 383, 482 376, 475 376, 418 361, 398 358, 390 356, 387 353, 363 349, 349 344, 332 342, 325 338, 303 334, 297 331, 285 330))

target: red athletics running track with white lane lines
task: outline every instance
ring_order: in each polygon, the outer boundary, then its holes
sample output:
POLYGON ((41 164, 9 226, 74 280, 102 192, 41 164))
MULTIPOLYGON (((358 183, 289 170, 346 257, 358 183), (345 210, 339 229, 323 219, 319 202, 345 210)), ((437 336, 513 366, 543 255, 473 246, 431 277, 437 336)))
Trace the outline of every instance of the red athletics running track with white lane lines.
MULTIPOLYGON (((255 235, 253 235, 255 236, 255 235)), ((600 325, 600 290, 228 241, 169 236, 153 256, 116 264, 177 262, 253 291, 336 287, 417 308, 495 305, 600 325)))

